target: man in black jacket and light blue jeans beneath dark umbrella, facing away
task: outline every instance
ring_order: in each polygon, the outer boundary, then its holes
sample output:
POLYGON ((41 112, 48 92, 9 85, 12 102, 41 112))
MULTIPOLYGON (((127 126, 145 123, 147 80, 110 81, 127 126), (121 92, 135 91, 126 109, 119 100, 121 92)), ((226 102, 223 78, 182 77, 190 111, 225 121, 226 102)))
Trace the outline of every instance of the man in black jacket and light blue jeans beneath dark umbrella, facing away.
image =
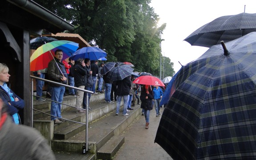
POLYGON ((123 97, 124 107, 123 107, 123 116, 127 116, 127 103, 128 103, 128 95, 130 93, 131 81, 129 76, 124 78, 123 80, 116 81, 117 85, 117 110, 116 115, 119 113, 120 103, 123 97))

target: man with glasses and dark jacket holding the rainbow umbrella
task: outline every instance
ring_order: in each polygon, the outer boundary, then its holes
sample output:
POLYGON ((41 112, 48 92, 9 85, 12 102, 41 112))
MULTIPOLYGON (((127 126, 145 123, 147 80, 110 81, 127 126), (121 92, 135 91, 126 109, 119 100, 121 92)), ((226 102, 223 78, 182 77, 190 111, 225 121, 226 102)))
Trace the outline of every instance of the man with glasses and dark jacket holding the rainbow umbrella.
MULTIPOLYGON (((63 58, 62 50, 55 51, 55 57, 48 63, 48 77, 50 81, 63 83, 67 82, 67 78, 64 76, 66 74, 66 69, 64 64, 61 62, 63 58)), ((65 121, 61 117, 61 103, 63 101, 63 95, 65 92, 65 87, 57 84, 50 83, 53 88, 52 91, 52 103, 51 103, 51 120, 54 121, 54 124, 60 124, 62 121, 65 121), (57 103, 57 102, 60 103, 57 103)))

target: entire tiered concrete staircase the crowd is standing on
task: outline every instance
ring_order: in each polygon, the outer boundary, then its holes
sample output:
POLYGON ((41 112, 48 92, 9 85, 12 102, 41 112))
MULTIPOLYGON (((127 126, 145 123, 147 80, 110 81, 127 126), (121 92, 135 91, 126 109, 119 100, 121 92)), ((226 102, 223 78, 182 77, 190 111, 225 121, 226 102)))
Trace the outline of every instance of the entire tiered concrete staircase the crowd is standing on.
MULTIPOLYGON (((54 124, 50 116, 38 111, 33 114, 33 126, 49 141, 57 160, 72 157, 79 160, 111 160, 119 148, 124 144, 125 137, 121 133, 141 113, 140 105, 130 110, 129 116, 115 115, 116 102, 105 103, 104 94, 93 94, 89 106, 93 109, 88 113, 88 152, 81 154, 85 142, 85 125, 72 121, 86 123, 85 113, 76 113, 76 109, 68 105, 76 105, 76 97, 66 96, 62 105, 61 115, 71 120, 61 124, 54 124), (65 158, 64 158, 65 157, 65 158)), ((45 113, 50 113, 50 101, 34 101, 34 108, 45 113)), ((123 105, 123 101, 121 102, 123 105)))

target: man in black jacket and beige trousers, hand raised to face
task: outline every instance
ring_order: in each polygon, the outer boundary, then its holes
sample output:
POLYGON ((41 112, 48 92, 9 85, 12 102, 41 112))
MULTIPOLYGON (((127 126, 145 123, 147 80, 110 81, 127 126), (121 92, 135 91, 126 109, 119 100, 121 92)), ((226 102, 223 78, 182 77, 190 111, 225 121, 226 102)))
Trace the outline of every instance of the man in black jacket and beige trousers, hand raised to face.
MULTIPOLYGON (((85 60, 84 59, 78 59, 75 62, 74 65, 74 81, 75 81, 75 86, 77 88, 85 89, 85 85, 87 83, 87 70, 85 66, 85 60)), ((84 92, 77 90, 77 113, 85 113, 85 110, 82 109, 82 102, 84 98, 84 92)))

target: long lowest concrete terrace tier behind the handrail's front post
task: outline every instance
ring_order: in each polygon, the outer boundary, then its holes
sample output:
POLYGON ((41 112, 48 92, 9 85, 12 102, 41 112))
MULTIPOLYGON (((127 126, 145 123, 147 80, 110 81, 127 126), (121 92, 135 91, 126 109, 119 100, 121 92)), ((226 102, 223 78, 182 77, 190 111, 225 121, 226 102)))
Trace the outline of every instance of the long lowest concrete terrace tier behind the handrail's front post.
MULTIPOLYGON (((140 105, 130 110, 128 116, 115 115, 115 110, 89 123, 88 140, 89 152, 96 154, 113 136, 119 136, 138 115, 141 114, 140 105)), ((120 108, 119 113, 122 113, 120 108)), ((68 140, 52 140, 53 150, 66 152, 81 152, 81 147, 86 139, 86 131, 77 133, 68 140)), ((114 154, 114 153, 113 153, 114 154)))

